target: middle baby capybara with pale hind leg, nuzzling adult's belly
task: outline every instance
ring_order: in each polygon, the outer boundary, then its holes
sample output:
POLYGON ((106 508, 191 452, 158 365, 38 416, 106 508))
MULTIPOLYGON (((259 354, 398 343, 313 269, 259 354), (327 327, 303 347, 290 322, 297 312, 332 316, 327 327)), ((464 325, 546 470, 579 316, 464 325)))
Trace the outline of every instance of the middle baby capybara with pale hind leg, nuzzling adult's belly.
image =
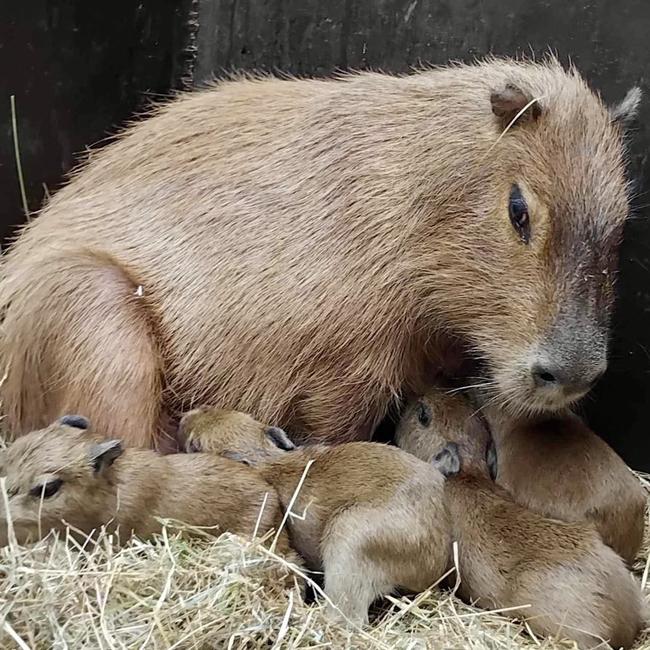
POLYGON ((224 418, 218 409, 201 408, 183 417, 181 429, 194 449, 256 467, 282 506, 291 505, 297 515, 287 519, 291 544, 308 567, 324 572, 325 593, 348 620, 366 622, 372 601, 396 587, 419 592, 442 577, 450 526, 444 479, 435 467, 372 442, 287 451, 239 415, 236 427, 238 414, 224 418), (229 435, 221 431, 226 420, 229 435))

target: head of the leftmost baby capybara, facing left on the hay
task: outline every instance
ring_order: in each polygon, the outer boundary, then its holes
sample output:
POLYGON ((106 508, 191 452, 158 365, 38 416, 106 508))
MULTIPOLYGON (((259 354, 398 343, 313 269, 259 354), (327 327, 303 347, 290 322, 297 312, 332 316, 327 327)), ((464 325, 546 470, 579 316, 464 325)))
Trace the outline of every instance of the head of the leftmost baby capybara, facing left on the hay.
POLYGON ((66 524, 93 528, 112 505, 112 464, 122 451, 119 440, 96 439, 78 415, 18 438, 0 456, 0 545, 10 525, 19 544, 66 524))

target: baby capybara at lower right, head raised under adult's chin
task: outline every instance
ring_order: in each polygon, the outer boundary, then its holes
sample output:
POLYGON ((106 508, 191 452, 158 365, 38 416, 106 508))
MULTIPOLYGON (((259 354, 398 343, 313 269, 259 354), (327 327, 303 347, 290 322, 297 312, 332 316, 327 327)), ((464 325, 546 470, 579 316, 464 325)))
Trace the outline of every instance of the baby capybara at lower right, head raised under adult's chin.
POLYGON ((464 426, 471 414, 464 398, 442 393, 430 419, 420 417, 423 404, 407 409, 398 440, 422 458, 432 453, 447 475, 459 595, 488 608, 522 607, 513 614, 533 632, 567 637, 583 648, 603 640, 615 648, 632 645, 641 626, 641 592, 593 525, 546 518, 496 485, 498 449, 480 421, 464 426))

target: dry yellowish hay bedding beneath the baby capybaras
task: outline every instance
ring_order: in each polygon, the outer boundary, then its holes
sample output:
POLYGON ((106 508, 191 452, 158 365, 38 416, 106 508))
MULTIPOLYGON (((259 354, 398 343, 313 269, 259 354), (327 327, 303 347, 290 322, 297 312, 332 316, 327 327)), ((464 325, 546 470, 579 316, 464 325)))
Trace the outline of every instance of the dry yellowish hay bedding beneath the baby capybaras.
MULTIPOLYGON (((259 540, 204 533, 188 541, 181 532, 169 523, 159 538, 122 548, 101 534, 95 544, 53 536, 0 550, 0 648, 575 647, 535 639, 437 589, 391 598, 367 630, 347 630, 328 620, 322 601, 303 602, 297 568, 259 540)), ((646 598, 649 541, 635 565, 646 598)), ((650 631, 636 647, 650 648, 650 631)))

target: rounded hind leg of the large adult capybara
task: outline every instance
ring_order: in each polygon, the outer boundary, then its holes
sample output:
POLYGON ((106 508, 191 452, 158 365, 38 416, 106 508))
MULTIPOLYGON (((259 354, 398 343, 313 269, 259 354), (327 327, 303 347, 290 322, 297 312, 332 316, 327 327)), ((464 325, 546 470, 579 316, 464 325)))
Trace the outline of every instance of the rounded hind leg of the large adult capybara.
POLYGON ((10 434, 78 413, 102 436, 152 446, 162 382, 146 287, 92 253, 18 268, 0 296, 0 396, 10 434))

